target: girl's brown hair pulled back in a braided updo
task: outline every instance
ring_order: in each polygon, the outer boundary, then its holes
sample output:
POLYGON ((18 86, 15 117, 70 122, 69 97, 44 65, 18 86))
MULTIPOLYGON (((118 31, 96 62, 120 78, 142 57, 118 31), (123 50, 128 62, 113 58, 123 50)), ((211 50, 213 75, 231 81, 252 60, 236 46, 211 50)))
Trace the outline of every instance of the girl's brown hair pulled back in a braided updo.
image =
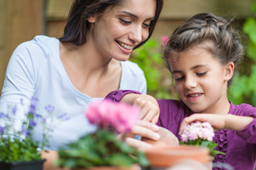
MULTIPOLYGON (((212 53, 222 65, 233 62, 236 65, 242 59, 242 44, 237 32, 230 22, 214 14, 197 14, 181 24, 170 37, 164 51, 163 59, 169 70, 169 59, 178 57, 190 47, 203 47, 212 53), (207 43, 207 42, 210 43, 207 43)), ((236 67, 235 67, 236 68, 236 67)), ((236 69, 234 70, 236 71, 236 69)), ((228 81, 232 83, 233 77, 228 81)))

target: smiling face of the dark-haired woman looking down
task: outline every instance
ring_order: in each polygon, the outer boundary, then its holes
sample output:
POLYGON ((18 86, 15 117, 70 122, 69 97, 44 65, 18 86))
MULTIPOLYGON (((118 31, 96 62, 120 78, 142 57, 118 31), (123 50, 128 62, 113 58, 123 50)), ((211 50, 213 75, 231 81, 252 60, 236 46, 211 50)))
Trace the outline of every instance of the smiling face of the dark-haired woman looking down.
POLYGON ((156 7, 156 0, 123 0, 120 5, 107 8, 102 16, 89 17, 92 24, 88 42, 101 56, 129 59, 133 48, 148 38, 156 7))

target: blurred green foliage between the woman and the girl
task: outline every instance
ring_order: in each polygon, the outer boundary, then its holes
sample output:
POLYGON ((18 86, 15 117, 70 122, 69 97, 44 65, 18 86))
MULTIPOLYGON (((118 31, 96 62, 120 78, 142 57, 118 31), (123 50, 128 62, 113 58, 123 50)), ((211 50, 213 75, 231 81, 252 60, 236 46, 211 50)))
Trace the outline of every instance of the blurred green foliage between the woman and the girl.
POLYGON ((164 65, 160 53, 160 41, 150 39, 142 47, 133 51, 130 58, 145 73, 148 94, 157 99, 171 99, 172 75, 164 65))

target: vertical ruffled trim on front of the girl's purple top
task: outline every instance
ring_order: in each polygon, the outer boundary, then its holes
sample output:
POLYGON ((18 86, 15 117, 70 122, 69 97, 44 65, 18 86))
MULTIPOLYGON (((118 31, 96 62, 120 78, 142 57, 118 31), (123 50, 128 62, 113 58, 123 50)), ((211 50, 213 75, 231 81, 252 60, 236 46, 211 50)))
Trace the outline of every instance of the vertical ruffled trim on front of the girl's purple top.
MULTIPOLYGON (((221 151, 226 153, 227 152, 227 129, 221 129, 215 132, 215 137, 213 138, 213 141, 215 143, 218 143, 218 146, 215 147, 215 150, 221 151)), ((218 154, 215 155, 215 159, 212 162, 218 163, 225 163, 225 156, 223 154, 218 154)), ((217 165, 216 168, 212 168, 213 170, 218 170, 218 169, 225 169, 221 165, 217 165)))

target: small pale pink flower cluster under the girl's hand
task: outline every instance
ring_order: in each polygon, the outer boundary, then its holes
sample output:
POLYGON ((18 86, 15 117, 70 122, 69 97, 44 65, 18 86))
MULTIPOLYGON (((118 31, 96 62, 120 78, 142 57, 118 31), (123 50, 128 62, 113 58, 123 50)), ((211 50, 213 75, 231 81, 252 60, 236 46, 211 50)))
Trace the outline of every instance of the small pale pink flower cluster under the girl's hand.
POLYGON ((204 122, 196 122, 188 124, 184 126, 183 132, 181 134, 181 141, 186 143, 189 141, 194 141, 197 138, 201 138, 203 140, 212 141, 212 138, 215 136, 213 132, 212 125, 210 123, 204 122))

